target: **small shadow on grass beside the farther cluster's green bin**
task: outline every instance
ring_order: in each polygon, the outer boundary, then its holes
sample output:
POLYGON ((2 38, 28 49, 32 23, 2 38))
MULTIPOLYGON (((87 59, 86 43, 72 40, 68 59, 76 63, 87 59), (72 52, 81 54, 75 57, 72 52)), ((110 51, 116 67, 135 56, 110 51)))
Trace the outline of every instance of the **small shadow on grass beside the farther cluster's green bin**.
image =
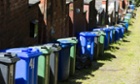
POLYGON ((100 56, 98 60, 102 61, 112 61, 112 59, 117 58, 115 55, 105 52, 103 56, 100 56))

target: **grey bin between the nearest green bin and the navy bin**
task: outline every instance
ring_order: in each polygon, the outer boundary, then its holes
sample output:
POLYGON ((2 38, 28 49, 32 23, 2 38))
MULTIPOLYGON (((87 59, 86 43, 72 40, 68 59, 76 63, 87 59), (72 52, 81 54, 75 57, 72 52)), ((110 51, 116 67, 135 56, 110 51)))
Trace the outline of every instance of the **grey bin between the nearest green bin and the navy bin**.
POLYGON ((61 47, 58 43, 47 43, 46 46, 50 50, 50 81, 49 84, 57 84, 58 82, 58 63, 59 63, 59 51, 61 47))

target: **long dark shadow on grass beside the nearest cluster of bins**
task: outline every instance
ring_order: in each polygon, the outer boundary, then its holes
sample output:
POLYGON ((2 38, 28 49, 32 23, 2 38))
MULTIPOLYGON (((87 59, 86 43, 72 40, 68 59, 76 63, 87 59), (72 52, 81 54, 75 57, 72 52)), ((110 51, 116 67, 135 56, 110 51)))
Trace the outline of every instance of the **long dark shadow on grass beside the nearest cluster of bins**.
POLYGON ((73 76, 70 76, 68 80, 63 82, 58 82, 58 84, 82 84, 82 82, 78 82, 77 80, 87 80, 88 76, 94 77, 95 75, 92 72, 98 70, 102 67, 104 63, 99 63, 97 61, 93 61, 91 67, 84 68, 82 70, 76 70, 73 76))

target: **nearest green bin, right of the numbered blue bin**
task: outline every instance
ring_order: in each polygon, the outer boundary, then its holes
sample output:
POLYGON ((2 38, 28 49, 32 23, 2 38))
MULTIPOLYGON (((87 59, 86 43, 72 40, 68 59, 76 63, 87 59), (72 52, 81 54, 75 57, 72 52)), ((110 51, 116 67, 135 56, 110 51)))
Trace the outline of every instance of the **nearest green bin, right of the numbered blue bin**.
POLYGON ((50 78, 50 48, 38 45, 30 48, 37 48, 42 54, 38 57, 38 84, 49 84, 50 78))

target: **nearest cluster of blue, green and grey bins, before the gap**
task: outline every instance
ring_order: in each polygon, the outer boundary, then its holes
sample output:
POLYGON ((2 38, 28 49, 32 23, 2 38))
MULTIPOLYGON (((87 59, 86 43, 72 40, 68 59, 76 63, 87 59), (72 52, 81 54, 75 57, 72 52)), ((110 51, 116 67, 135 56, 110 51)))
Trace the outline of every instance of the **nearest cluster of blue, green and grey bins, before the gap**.
POLYGON ((57 84, 73 75, 77 39, 57 41, 1 52, 0 84, 57 84))

